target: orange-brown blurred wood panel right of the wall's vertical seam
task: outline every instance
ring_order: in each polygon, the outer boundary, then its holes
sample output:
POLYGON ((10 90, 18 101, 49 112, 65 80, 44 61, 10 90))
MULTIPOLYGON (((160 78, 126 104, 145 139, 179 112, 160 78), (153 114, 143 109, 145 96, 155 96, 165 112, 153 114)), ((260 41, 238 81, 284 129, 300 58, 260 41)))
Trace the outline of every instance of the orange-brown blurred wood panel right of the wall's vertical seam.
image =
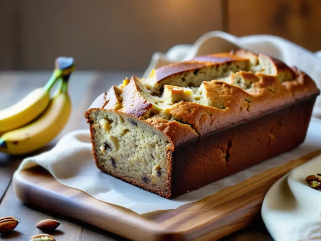
POLYGON ((311 51, 321 50, 321 1, 228 0, 228 32, 271 34, 311 51))

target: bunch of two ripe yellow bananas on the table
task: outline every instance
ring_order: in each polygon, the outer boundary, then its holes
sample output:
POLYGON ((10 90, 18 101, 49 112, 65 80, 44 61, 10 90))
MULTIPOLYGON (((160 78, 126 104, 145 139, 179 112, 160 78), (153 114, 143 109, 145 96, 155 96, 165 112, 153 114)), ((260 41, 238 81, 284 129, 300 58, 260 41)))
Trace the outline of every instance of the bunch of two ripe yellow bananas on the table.
POLYGON ((44 147, 60 133, 71 113, 67 87, 73 71, 73 58, 57 58, 45 86, 0 110, 0 152, 28 154, 44 147), (50 90, 56 82, 56 90, 51 96, 50 90))

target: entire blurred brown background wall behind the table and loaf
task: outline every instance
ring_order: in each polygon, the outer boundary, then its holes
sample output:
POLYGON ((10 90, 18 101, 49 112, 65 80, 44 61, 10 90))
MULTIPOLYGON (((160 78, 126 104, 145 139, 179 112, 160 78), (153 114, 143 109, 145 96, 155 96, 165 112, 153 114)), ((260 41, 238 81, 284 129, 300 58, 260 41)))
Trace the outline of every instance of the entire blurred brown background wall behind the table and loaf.
POLYGON ((321 50, 320 0, 0 0, 0 70, 144 71, 202 34, 273 34, 321 50))

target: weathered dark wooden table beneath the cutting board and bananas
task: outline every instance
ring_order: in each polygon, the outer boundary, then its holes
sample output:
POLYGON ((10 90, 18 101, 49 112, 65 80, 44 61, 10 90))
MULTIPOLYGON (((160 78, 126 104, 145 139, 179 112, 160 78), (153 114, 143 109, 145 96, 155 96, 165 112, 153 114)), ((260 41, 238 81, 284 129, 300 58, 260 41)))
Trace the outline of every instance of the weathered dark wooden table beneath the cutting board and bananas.
MULTIPOLYGON (((135 73, 134 73, 135 74, 135 73)), ((51 72, 0 72, 0 109, 7 107, 34 88, 44 85, 51 72)), ((48 149, 65 133, 74 129, 88 128, 83 117, 84 111, 101 93, 107 91, 111 85, 118 85, 125 77, 133 73, 97 73, 76 71, 70 79, 69 94, 73 103, 73 111, 68 124, 59 136, 48 145, 48 149)), ((136 73, 140 76, 140 73, 136 73)), ((43 150, 39 150, 38 154, 43 150)), ((14 232, 0 235, 0 240, 29 240, 38 234, 35 225, 42 219, 56 219, 61 225, 54 234, 57 240, 98 241, 98 240, 128 240, 99 228, 79 222, 68 217, 51 213, 37 207, 23 204, 17 199, 13 191, 12 175, 20 162, 26 156, 9 156, 0 153, 0 217, 13 216, 20 223, 14 232)), ((273 240, 268 234, 260 217, 250 227, 223 238, 222 240, 273 240)))

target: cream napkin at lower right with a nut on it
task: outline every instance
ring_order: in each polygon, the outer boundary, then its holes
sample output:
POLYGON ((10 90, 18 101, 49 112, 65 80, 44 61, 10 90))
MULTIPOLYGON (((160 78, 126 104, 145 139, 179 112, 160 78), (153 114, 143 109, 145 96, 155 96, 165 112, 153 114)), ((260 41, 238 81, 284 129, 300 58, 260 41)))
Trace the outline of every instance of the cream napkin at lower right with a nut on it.
POLYGON ((321 240, 321 192, 306 177, 321 171, 321 156, 294 168, 266 193, 262 218, 275 241, 321 240))

